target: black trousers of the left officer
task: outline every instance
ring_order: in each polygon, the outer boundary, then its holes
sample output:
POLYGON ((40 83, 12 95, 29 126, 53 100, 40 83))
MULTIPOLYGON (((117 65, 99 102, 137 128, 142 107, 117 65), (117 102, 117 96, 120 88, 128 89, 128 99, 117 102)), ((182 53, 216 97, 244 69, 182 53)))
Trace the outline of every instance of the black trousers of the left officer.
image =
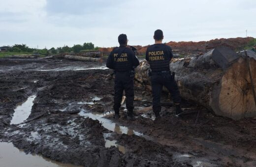
POLYGON ((130 77, 129 72, 116 72, 115 75, 115 95, 114 95, 114 110, 119 111, 123 97, 123 91, 126 93, 126 108, 128 111, 133 110, 133 77, 130 77))

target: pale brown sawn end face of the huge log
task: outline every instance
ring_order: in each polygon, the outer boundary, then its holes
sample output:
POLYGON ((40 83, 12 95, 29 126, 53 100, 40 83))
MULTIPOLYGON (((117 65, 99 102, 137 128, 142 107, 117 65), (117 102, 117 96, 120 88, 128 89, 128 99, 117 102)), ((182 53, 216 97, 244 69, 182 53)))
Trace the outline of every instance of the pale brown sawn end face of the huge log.
MULTIPOLYGON (((256 86, 256 60, 250 58, 250 67, 256 86)), ((219 91, 213 92, 211 106, 216 114, 238 120, 255 117, 256 104, 246 60, 239 58, 222 77, 219 91)), ((215 90, 218 90, 216 88, 215 90)))

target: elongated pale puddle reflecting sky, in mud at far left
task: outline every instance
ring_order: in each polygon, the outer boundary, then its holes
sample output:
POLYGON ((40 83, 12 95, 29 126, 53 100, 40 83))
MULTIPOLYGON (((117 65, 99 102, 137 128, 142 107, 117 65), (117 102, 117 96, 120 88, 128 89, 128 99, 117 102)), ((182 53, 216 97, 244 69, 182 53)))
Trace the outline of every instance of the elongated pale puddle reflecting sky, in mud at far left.
POLYGON ((16 109, 14 109, 11 124, 22 123, 30 116, 35 97, 35 95, 28 97, 24 103, 19 104, 16 109))

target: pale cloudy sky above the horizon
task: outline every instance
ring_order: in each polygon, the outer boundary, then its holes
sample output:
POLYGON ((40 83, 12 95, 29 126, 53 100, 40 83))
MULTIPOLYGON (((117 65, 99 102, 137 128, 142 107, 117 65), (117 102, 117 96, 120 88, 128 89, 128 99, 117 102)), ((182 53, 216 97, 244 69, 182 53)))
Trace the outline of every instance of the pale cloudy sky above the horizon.
POLYGON ((0 0, 0 46, 118 46, 256 37, 256 0, 0 0))

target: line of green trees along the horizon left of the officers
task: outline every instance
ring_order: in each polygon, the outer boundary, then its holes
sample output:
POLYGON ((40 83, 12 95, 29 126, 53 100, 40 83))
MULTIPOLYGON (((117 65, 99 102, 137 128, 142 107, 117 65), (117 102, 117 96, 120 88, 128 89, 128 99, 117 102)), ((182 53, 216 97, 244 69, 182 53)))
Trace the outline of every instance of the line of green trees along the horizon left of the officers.
POLYGON ((81 51, 93 51, 93 50, 98 50, 99 47, 95 47, 93 43, 84 43, 83 45, 74 45, 73 47, 58 47, 54 48, 52 47, 51 49, 36 49, 36 48, 29 48, 26 44, 15 44, 13 46, 8 46, 7 51, 9 52, 29 52, 29 53, 36 53, 36 54, 42 54, 42 55, 49 55, 49 54, 58 54, 58 53, 69 53, 69 52, 74 52, 74 53, 79 53, 81 51))

